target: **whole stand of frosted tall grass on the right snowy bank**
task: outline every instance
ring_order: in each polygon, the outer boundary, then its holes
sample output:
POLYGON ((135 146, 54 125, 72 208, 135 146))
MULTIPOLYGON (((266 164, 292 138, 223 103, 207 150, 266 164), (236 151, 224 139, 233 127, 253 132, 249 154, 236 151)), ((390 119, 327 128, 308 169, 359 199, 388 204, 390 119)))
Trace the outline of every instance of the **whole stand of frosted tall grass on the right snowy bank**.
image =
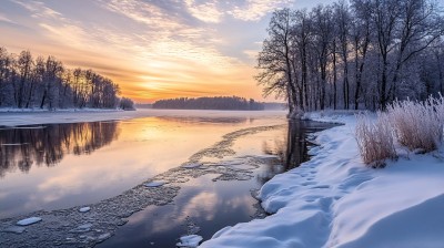
POLYGON ((394 138, 412 151, 431 152, 444 140, 444 97, 424 102, 395 101, 375 122, 367 114, 356 115, 356 140, 365 164, 381 167, 395 158, 394 138))

